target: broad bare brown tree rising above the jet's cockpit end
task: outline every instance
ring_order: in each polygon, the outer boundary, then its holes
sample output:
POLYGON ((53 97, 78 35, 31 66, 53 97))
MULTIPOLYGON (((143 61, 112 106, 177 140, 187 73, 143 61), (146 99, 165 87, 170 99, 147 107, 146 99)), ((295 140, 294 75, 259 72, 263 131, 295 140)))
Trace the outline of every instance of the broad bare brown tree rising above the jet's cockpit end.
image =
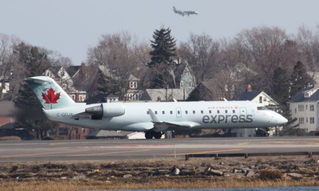
POLYGON ((292 71, 297 52, 294 41, 278 27, 254 27, 243 30, 236 36, 237 45, 246 55, 247 62, 259 75, 255 78, 256 87, 271 92, 271 77, 278 66, 292 71), (287 50, 289 49, 289 50, 287 50))

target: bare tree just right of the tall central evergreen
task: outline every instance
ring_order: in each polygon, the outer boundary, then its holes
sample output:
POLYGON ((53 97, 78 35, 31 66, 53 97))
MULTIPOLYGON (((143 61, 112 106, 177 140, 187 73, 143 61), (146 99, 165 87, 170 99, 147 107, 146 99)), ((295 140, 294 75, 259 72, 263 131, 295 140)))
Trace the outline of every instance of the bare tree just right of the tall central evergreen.
POLYGON ((219 42, 214 41, 209 35, 190 34, 187 42, 180 44, 181 59, 189 64, 196 83, 209 79, 216 69, 216 57, 219 42))

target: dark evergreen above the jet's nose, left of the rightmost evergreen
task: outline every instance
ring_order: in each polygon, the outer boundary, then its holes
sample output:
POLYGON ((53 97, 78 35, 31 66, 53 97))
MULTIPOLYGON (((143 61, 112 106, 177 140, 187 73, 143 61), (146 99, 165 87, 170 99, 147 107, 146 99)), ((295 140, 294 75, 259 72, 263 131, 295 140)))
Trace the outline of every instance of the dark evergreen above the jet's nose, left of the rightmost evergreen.
POLYGON ((289 100, 290 85, 287 71, 281 67, 276 68, 272 81, 273 98, 278 102, 278 104, 285 105, 289 100))

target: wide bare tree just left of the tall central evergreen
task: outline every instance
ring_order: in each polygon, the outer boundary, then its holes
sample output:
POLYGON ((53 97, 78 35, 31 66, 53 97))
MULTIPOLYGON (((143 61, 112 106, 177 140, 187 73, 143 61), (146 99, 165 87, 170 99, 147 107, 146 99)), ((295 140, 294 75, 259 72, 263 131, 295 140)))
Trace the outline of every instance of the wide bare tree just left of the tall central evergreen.
POLYGON ((145 45, 139 44, 128 32, 102 35, 98 45, 88 50, 90 65, 103 65, 108 71, 108 78, 116 82, 119 87, 118 95, 127 96, 130 74, 145 67, 145 53, 137 50, 148 50, 145 45))

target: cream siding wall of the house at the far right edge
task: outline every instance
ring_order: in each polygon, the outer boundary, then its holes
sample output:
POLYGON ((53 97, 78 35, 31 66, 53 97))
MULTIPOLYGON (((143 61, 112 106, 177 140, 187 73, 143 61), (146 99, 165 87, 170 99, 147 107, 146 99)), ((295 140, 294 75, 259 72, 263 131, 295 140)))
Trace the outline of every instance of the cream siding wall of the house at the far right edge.
POLYGON ((300 118, 304 118, 304 123, 299 124, 298 128, 306 129, 307 132, 319 130, 319 103, 316 102, 291 102, 290 110, 292 114, 292 118, 297 118, 297 121, 292 123, 291 126, 297 125, 299 123, 300 118), (300 111, 299 105, 303 107, 303 111, 300 111), (310 110, 310 105, 314 105, 314 110, 310 110), (314 123, 311 122, 311 117, 314 117, 314 123))

